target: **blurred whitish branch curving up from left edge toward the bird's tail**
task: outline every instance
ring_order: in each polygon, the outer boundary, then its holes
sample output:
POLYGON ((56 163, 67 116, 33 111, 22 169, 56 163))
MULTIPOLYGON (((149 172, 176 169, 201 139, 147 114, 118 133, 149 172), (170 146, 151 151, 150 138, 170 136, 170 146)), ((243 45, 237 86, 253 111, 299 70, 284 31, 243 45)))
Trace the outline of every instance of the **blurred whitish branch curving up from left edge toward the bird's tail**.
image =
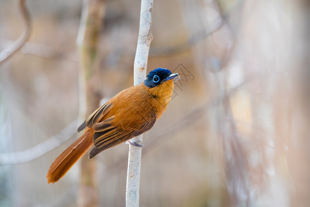
POLYGON ((75 135, 76 121, 77 120, 72 121, 68 126, 61 130, 59 134, 50 137, 50 139, 45 140, 40 144, 37 144, 37 146, 20 152, 0 154, 0 165, 22 164, 37 159, 45 155, 47 152, 54 150, 54 148, 60 146, 75 135))

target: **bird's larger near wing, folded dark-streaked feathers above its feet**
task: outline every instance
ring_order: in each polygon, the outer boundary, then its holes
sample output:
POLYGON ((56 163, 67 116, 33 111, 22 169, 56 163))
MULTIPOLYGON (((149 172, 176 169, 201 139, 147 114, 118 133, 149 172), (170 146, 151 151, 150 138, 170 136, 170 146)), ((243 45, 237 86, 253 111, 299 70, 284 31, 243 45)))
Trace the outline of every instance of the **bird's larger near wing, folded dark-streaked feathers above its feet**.
MULTIPOLYGON (((90 152, 89 157, 96 156, 99 152, 111 148, 141 135, 143 132, 152 128, 155 124, 156 117, 149 120, 132 122, 130 125, 123 126, 121 123, 114 123, 114 116, 107 118, 99 123, 94 124, 94 148, 90 152), (141 123, 139 123, 141 122, 141 123), (114 123, 114 124, 112 124, 114 123)), ((123 120, 124 123, 126 121, 123 120)))

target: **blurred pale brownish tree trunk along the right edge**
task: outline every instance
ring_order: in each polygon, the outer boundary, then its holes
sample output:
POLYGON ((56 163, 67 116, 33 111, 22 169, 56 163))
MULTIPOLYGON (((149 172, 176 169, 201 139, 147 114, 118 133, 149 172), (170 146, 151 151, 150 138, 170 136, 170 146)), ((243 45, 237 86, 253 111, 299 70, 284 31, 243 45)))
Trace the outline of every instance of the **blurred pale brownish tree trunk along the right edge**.
MULTIPOLYGON (((310 203, 310 1, 298 1, 294 24, 295 39, 291 64, 291 140, 288 144, 288 163, 291 172, 291 206, 307 206, 310 203)), ((286 126, 283 124, 282 128, 286 126)))

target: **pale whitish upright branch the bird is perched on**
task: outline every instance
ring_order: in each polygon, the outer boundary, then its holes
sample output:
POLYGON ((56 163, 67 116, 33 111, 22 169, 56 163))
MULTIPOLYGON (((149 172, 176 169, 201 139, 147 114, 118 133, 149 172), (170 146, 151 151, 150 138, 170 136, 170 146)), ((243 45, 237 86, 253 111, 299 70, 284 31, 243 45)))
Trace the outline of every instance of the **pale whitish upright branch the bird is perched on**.
MULTIPOLYGON (((153 0, 141 0, 140 26, 136 57, 134 57, 134 85, 141 84, 146 76, 147 57, 153 36, 152 25, 153 0)), ((142 135, 131 141, 141 142, 142 135)), ((126 206, 139 206, 139 186, 142 148, 130 145, 127 169, 126 206)))

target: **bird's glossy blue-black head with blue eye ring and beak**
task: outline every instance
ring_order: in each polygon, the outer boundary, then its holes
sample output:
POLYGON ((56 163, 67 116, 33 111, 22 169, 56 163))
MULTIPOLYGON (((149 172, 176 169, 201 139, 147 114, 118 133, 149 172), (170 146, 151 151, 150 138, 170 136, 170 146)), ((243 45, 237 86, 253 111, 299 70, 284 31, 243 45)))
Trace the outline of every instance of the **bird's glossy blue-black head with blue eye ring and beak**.
POLYGON ((144 81, 144 85, 148 88, 154 88, 159 84, 174 79, 178 76, 178 73, 172 73, 170 70, 165 68, 157 68, 149 72, 147 79, 144 81))

